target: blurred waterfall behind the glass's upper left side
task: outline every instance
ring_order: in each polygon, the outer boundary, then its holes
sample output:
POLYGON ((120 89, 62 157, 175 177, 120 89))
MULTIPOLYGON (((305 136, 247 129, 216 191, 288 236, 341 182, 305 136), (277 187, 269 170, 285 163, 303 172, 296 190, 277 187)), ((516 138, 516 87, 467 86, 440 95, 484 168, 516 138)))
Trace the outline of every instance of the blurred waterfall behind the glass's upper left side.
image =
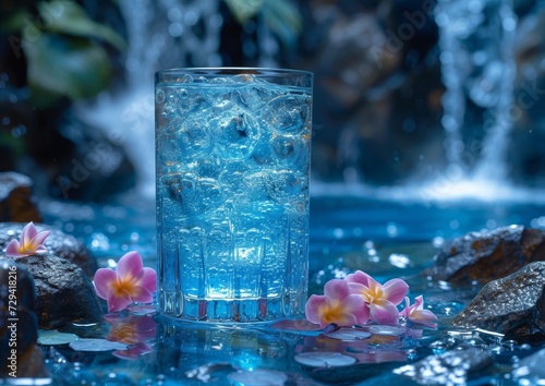
POLYGON ((129 48, 126 85, 78 105, 78 116, 122 146, 136 169, 136 193, 155 197, 154 73, 164 68, 221 65, 217 0, 121 0, 129 48))

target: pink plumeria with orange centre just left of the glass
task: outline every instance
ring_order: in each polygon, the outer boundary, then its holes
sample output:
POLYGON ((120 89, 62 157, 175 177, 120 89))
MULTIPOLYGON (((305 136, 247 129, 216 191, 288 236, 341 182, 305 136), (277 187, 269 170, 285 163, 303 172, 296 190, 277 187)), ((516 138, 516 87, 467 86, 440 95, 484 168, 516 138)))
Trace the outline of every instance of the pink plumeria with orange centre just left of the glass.
POLYGON ((137 252, 124 254, 118 262, 118 270, 100 268, 96 272, 95 290, 106 299, 108 312, 124 310, 133 302, 149 303, 157 289, 157 274, 144 268, 137 252))

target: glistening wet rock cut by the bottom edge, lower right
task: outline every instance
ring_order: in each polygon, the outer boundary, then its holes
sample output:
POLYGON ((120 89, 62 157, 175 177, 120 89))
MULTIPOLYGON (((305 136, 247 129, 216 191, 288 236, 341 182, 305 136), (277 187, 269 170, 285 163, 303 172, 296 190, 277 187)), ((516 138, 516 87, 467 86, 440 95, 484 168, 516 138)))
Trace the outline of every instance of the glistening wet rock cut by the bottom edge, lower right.
POLYGON ((429 355, 393 370, 419 385, 465 385, 492 371, 493 358, 484 350, 467 348, 429 355))

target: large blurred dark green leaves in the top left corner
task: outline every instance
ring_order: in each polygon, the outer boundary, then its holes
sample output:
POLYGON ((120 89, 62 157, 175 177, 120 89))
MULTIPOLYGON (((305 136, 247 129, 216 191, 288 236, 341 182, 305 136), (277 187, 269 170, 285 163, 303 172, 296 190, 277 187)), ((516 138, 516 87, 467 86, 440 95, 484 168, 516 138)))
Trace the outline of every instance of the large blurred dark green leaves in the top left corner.
POLYGON ((90 98, 107 88, 112 69, 104 43, 124 50, 124 39, 72 0, 39 1, 36 9, 37 15, 19 7, 3 17, 4 29, 21 36, 9 41, 26 56, 31 101, 48 108, 60 97, 90 98))

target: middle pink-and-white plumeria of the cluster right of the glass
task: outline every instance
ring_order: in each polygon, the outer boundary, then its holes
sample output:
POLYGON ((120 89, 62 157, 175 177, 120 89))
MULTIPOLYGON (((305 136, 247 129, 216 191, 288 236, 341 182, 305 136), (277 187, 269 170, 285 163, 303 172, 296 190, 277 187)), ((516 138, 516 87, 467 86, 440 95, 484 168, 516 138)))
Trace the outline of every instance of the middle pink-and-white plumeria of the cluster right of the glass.
POLYGON ((376 324, 395 325, 399 321, 397 305, 409 290, 409 285, 401 279, 388 280, 384 286, 370 275, 356 270, 344 278, 352 293, 362 297, 371 318, 376 324))

